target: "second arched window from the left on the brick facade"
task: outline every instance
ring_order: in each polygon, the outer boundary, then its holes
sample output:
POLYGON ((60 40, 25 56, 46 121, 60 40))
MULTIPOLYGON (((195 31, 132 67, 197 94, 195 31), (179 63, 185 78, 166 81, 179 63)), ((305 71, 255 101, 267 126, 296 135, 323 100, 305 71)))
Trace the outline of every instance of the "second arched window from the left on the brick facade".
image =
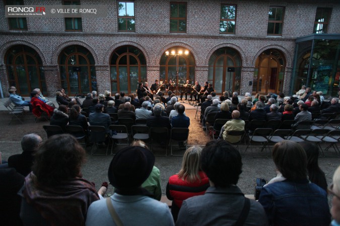
POLYGON ((61 87, 68 95, 86 95, 97 90, 95 61, 88 49, 78 45, 66 47, 58 62, 61 87))

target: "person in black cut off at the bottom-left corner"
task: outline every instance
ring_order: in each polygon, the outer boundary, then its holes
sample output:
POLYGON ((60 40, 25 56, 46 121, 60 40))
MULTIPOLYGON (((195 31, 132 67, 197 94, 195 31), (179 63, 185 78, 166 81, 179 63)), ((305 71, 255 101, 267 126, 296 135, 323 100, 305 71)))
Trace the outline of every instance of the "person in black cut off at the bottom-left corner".
POLYGON ((0 181, 1 225, 23 225, 20 219, 21 197, 18 191, 24 185, 25 177, 15 168, 0 168, 0 181))

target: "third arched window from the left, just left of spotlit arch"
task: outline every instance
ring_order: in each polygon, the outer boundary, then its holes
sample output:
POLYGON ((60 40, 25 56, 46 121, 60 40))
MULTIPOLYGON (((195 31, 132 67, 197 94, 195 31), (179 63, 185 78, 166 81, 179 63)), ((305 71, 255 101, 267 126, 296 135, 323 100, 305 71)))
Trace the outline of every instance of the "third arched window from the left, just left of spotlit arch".
POLYGON ((115 49, 110 59, 111 90, 135 92, 139 82, 147 81, 147 63, 143 52, 134 46, 115 49))

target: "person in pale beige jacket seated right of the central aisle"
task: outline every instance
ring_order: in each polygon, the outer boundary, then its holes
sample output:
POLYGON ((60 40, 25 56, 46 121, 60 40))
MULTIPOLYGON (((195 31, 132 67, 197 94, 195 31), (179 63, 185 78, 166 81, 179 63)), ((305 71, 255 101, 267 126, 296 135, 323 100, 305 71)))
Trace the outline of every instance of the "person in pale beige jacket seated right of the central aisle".
POLYGON ((227 134, 227 131, 244 131, 245 122, 239 118, 240 112, 238 110, 233 110, 232 120, 226 122, 221 128, 220 139, 224 139, 227 142, 235 143, 240 140, 241 136, 231 136, 227 134))

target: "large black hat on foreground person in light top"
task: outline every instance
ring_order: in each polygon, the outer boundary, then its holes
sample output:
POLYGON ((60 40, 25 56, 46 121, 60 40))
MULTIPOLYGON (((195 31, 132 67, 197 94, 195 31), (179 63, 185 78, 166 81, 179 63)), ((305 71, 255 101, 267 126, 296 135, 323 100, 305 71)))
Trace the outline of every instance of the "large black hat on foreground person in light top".
POLYGON ((148 179, 155 163, 155 156, 148 149, 129 146, 120 150, 112 159, 108 178, 118 189, 137 188, 148 179))

